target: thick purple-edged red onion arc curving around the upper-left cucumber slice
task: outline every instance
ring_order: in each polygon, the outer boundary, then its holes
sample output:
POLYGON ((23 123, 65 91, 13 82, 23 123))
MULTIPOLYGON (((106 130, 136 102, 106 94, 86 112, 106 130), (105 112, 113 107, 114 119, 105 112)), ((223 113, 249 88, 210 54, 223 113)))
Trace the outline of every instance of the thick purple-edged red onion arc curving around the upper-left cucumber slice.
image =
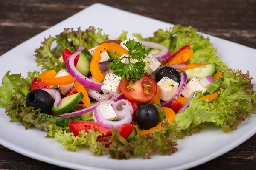
POLYGON ((101 82, 96 82, 95 80, 89 79, 82 75, 79 71, 76 70, 76 67, 74 65, 74 60, 78 54, 81 53, 81 50, 74 52, 70 57, 67 58, 67 70, 71 74, 71 76, 76 79, 79 83, 86 86, 87 88, 96 90, 96 91, 102 91, 101 82))

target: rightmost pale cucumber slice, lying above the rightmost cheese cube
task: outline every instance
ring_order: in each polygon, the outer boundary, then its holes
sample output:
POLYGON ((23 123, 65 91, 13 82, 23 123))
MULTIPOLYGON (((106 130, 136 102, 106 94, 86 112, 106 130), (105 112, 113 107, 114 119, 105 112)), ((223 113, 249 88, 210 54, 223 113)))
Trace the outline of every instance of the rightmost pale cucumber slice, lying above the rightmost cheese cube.
POLYGON ((185 70, 185 73, 187 74, 188 77, 187 82, 189 82, 194 77, 199 77, 200 79, 207 77, 209 75, 213 77, 217 71, 216 66, 217 65, 215 63, 212 63, 185 70))

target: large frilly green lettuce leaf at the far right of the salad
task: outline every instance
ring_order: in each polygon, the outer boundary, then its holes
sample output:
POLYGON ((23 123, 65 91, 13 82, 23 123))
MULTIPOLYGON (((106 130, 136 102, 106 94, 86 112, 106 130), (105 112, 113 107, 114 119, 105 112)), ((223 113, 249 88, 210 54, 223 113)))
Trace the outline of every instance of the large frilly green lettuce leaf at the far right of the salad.
POLYGON ((191 125, 200 125, 204 122, 213 122, 221 126, 223 133, 236 130, 239 123, 256 111, 256 92, 249 77, 249 72, 227 69, 223 71, 224 82, 212 102, 200 98, 201 92, 191 99, 189 107, 177 114, 175 120, 179 122, 181 130, 191 125))

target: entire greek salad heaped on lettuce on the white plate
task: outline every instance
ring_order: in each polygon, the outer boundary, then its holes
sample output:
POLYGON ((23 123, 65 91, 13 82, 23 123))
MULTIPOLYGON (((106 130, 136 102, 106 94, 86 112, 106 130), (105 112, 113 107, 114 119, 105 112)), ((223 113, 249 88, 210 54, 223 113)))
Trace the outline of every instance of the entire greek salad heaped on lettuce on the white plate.
POLYGON ((205 122, 223 133, 255 113, 249 72, 233 70, 191 26, 109 40, 90 27, 64 29, 35 50, 42 72, 3 77, 0 106, 68 151, 87 147, 113 159, 177 151, 177 139, 205 122), (57 46, 52 47, 56 41, 57 46))

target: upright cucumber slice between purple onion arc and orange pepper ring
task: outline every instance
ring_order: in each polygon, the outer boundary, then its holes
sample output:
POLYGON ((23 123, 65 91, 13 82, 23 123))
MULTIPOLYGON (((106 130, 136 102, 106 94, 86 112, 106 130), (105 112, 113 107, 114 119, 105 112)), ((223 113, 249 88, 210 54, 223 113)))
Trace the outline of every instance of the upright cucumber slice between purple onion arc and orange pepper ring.
POLYGON ((85 48, 78 59, 76 69, 86 77, 90 76, 90 61, 92 60, 92 55, 90 52, 85 48))

